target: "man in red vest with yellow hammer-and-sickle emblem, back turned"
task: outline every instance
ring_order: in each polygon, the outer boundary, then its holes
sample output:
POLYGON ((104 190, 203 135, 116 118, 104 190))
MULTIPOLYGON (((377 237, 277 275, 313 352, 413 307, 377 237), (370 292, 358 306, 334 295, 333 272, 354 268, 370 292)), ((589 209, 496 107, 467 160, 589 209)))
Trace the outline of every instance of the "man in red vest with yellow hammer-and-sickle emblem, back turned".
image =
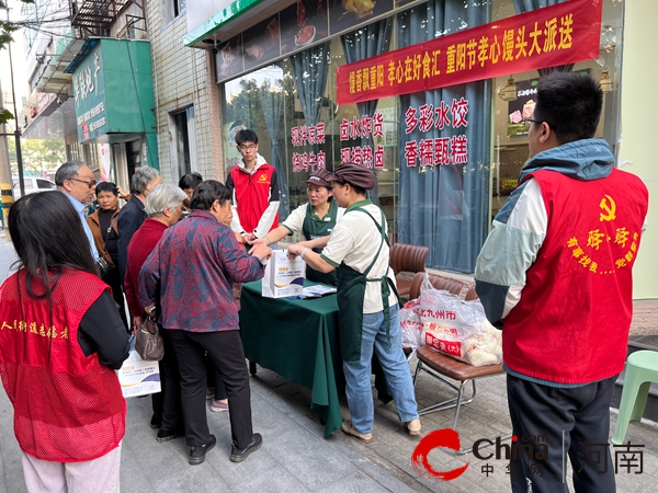
POLYGON ((589 76, 540 80, 531 159, 477 260, 477 293, 488 319, 502 322, 514 492, 566 492, 566 454, 577 492, 615 491, 609 408, 648 192, 593 138, 602 103, 589 76), (542 450, 519 446, 540 438, 542 450))

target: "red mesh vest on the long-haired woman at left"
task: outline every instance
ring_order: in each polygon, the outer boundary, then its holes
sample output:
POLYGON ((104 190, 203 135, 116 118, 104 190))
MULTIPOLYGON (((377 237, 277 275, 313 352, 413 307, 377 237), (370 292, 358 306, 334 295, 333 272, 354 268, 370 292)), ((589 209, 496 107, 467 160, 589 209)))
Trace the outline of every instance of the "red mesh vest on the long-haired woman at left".
MULTIPOLYGON (((126 401, 115 371, 98 354, 82 353, 78 326, 107 286, 66 271, 53 293, 49 325, 48 303, 29 295, 25 277, 22 268, 0 287, 0 376, 14 406, 16 439, 42 460, 97 459, 123 438, 126 401)), ((33 283, 37 293, 39 284, 33 283)))

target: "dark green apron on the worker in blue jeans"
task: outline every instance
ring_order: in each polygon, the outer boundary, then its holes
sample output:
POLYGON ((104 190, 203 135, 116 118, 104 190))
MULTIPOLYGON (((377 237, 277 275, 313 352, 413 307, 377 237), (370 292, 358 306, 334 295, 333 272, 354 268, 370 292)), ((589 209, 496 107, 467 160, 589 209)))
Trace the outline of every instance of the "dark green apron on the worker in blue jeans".
MULTIPOLYGON (((360 205, 371 204, 370 200, 363 200, 360 205)), ((379 283, 382 286, 382 303, 384 307, 384 323, 386 324, 386 337, 390 345, 390 307, 388 306, 388 296, 390 295, 390 288, 395 293, 396 298, 399 301, 399 296, 395 284, 388 277, 388 267, 386 274, 382 277, 370 278, 368 274, 375 262, 379 257, 382 246, 386 242, 388 250, 390 251, 390 244, 388 243, 388 237, 384 232, 384 227, 381 226, 375 218, 365 209, 361 207, 348 208, 345 214, 352 210, 359 210, 367 214, 373 220, 379 232, 382 233, 382 241, 377 253, 373 259, 373 262, 365 270, 364 273, 360 273, 352 267, 341 263, 338 267, 338 288, 337 288, 337 301, 338 301, 338 329, 340 333, 340 351, 344 362, 358 363, 361 360, 361 336, 363 332, 363 298, 365 297, 366 283, 379 283)), ((386 218, 384 211, 382 211, 382 225, 386 218)))

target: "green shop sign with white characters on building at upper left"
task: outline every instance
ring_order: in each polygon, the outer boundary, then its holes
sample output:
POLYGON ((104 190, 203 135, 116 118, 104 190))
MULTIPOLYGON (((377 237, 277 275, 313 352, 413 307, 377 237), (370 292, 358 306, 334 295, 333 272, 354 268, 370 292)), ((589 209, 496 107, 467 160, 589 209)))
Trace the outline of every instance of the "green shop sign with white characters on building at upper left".
POLYGON ((105 134, 107 127, 103 65, 99 51, 100 45, 78 67, 72 78, 78 139, 81 142, 105 134))

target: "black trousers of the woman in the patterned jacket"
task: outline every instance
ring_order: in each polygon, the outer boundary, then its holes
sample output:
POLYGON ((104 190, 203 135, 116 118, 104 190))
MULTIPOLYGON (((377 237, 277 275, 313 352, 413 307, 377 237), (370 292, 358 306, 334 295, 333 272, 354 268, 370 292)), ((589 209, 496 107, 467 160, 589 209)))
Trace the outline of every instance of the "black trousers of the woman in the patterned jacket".
POLYGON ((249 371, 240 332, 168 332, 181 374, 181 400, 188 445, 205 445, 211 439, 205 406, 207 379, 204 354, 207 352, 226 387, 232 442, 238 448, 246 448, 253 439, 253 429, 249 371))

